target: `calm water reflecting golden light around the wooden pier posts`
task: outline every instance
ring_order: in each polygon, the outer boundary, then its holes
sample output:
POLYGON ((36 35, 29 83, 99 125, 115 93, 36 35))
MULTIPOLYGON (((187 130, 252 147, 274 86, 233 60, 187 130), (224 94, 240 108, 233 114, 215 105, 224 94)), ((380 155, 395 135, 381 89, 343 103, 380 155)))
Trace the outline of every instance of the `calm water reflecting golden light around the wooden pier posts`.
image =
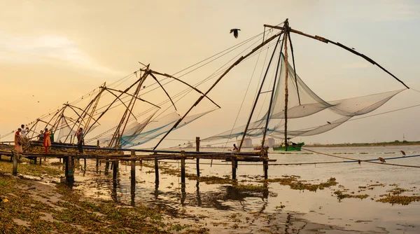
MULTIPOLYGON (((401 156, 400 150, 408 155, 420 154, 420 146, 398 147, 348 147, 348 148, 308 148, 323 153, 331 153, 349 158, 373 159, 392 158, 401 156)), ((319 163, 328 161, 342 161, 320 154, 301 151, 297 153, 279 154, 269 152, 269 158, 276 159, 275 163, 319 163)), ((176 170, 181 170, 179 162, 165 160, 160 165, 170 165, 176 170), (165 163, 167 162, 167 163, 165 163)), ((195 174, 195 160, 187 160, 186 172, 195 174)), ((200 160, 200 175, 231 177, 232 167, 230 162, 221 163, 214 160, 200 160), (220 165, 221 164, 221 165, 220 165)), ((418 158, 402 158, 387 160, 387 163, 420 165, 418 158)), ((239 184, 258 184, 256 179, 262 179, 262 164, 239 162, 237 179, 239 184), (243 181, 247 180, 247 181, 243 181)), ((151 167, 136 167, 135 193, 130 190, 130 166, 120 165, 118 183, 113 184, 104 178, 104 163, 96 169, 94 162, 88 160, 87 170, 76 171, 76 181, 89 183, 80 186, 94 198, 110 198, 135 204, 144 202, 160 207, 170 212, 184 212, 208 216, 209 219, 223 219, 230 214, 253 214, 278 212, 279 205, 285 205, 283 211, 300 213, 302 219, 311 223, 338 226, 341 230, 325 230, 325 233, 420 233, 420 202, 410 205, 391 205, 376 202, 379 195, 388 193, 386 190, 395 188, 410 189, 403 195, 418 195, 420 193, 420 168, 395 167, 371 163, 332 163, 317 165, 277 165, 269 167, 269 179, 279 178, 283 175, 297 175, 301 179, 318 183, 335 177, 339 185, 348 188, 350 193, 368 194, 368 198, 346 198, 337 200, 333 192, 338 186, 325 190, 296 191, 289 186, 279 183, 270 183, 268 193, 253 193, 251 191, 238 191, 230 184, 220 185, 197 183, 195 180, 186 179, 186 187, 181 187, 181 178, 162 174, 160 171, 160 184, 155 186, 155 173, 151 167), (98 170, 98 171, 97 171, 98 170), (100 173, 99 173, 100 171, 100 173), (96 183, 91 184, 92 177, 96 183), (360 191, 358 186, 371 184, 384 184, 374 186, 373 190, 360 191), (391 186, 392 185, 392 186, 391 186), (373 198, 374 200, 371 200, 373 198), (217 217, 217 219, 215 218, 217 217), (347 230, 348 232, 344 232, 347 230)), ((112 170, 109 171, 112 174, 112 170)), ((260 185, 260 184, 259 184, 260 185)), ((213 226, 211 226, 213 228, 213 226)), ((225 228, 226 229, 226 228, 225 228)), ((221 228, 223 230, 223 228, 221 228)), ((223 232, 223 231, 222 231, 223 232)), ((226 230, 226 233, 241 233, 240 230, 226 230)), ((250 233, 244 231, 244 233, 250 233)), ((254 233, 258 233, 254 231, 254 233)))

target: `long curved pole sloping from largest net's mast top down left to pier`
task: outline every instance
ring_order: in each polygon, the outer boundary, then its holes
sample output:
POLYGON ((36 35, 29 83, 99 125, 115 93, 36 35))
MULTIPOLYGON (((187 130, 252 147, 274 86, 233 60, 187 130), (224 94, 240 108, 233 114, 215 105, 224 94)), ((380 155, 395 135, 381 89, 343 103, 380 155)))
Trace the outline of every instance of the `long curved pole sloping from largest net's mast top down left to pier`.
POLYGON ((273 39, 276 39, 277 36, 280 36, 282 32, 279 32, 277 34, 275 34, 274 36, 270 37, 269 39, 267 39, 266 41, 263 41, 260 46, 257 46, 255 48, 253 48, 253 50, 251 50, 251 52, 247 53, 244 56, 239 57, 239 59, 234 62, 228 69, 226 69, 225 72, 223 72, 223 74, 221 74, 221 76, 219 76, 219 78, 213 83, 213 85, 211 85, 211 87, 207 90, 207 92, 204 93, 204 95, 202 95, 201 97, 199 97, 197 99, 197 101, 195 101, 195 104, 193 104, 193 106, 190 107, 190 109, 188 109, 188 111, 179 119, 179 121, 177 121, 172 128, 160 139, 160 141, 158 142, 158 144, 156 144, 156 146, 153 149, 158 148, 159 144, 163 141, 163 139, 165 139, 165 137, 167 137, 167 135, 169 135, 169 133, 172 132, 172 130, 174 130, 176 128, 176 126, 179 125, 179 123, 181 123, 181 121, 186 118, 186 116, 188 115, 188 113, 190 113, 191 110, 193 110, 194 106, 197 106, 197 104, 199 104, 201 102, 201 100, 206 97, 209 92, 211 90, 213 90, 213 88, 219 83, 219 81, 221 81, 221 79, 226 76, 226 74, 229 73, 230 70, 232 70, 232 68, 234 68, 237 64, 239 64, 240 62, 242 62, 242 60, 244 60, 246 57, 249 57, 250 55, 252 55, 253 53, 255 53, 255 51, 259 50, 262 46, 265 46, 267 43, 269 43, 270 41, 272 41, 273 39))

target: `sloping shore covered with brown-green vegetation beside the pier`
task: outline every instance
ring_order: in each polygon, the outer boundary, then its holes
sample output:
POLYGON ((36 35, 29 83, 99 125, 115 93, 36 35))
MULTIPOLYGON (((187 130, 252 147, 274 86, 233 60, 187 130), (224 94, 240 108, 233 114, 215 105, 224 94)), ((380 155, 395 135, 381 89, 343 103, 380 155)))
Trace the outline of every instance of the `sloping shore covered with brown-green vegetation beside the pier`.
MULTIPOLYGON (((10 175, 12 163, 0 161, 1 233, 208 233, 207 228, 170 223, 162 211, 111 200, 87 200, 64 184, 51 191, 28 190, 34 182, 10 175)), ((20 174, 63 172, 44 165, 19 164, 20 174)))

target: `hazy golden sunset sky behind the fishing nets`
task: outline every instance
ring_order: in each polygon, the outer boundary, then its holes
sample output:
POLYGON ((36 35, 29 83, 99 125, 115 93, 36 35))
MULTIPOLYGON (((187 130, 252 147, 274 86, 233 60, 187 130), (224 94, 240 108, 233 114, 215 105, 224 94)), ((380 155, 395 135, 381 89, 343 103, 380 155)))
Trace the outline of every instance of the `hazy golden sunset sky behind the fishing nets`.
MULTIPOLYGON (((418 1, 5 0, 0 9, 1 135, 105 81, 117 81, 139 69, 138 62, 174 74, 262 33, 264 24, 278 25, 286 18, 293 29, 355 48, 420 90, 418 1), (241 29, 238 39, 229 34, 231 28, 241 29)), ((298 74, 324 99, 404 88, 342 48, 292 36, 298 74)), ((213 71, 204 69, 197 76, 213 71)), ((211 92, 221 110, 193 123, 193 132, 186 129, 172 137, 204 138, 232 128, 242 97, 237 94, 248 84, 241 82, 241 77, 249 78, 248 70, 242 71, 221 82, 225 88, 211 92)), ((416 104, 420 92, 405 90, 374 113, 416 104)), ((181 106, 179 113, 185 110, 181 106)), ((402 140, 402 135, 420 140, 419 115, 420 106, 344 123, 302 140, 380 142, 402 140)))

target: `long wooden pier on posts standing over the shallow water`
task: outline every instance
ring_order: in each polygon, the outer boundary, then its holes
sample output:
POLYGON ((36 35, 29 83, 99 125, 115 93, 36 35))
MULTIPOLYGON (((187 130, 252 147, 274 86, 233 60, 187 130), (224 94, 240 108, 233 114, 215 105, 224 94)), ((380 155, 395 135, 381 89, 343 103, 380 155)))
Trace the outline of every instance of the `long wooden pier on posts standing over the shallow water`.
MULTIPOLYGON (((267 156, 267 151, 258 152, 201 152, 200 151, 200 137, 197 137, 196 151, 162 151, 162 150, 146 150, 146 149, 110 149, 100 148, 97 146, 85 146, 83 149, 90 151, 89 153, 16 153, 15 151, 0 151, 0 156, 10 156, 10 161, 13 161, 13 175, 18 174, 18 160, 19 158, 28 158, 34 160, 34 164, 41 165, 42 158, 59 158, 60 162, 65 165, 65 179, 67 184, 74 183, 74 167, 75 160, 80 162, 86 159, 96 160, 98 166, 101 162, 106 162, 106 167, 109 168, 109 163, 112 163, 111 170, 113 170, 113 181, 116 181, 118 175, 118 167, 120 161, 131 163, 131 184, 132 187, 136 183, 136 162, 143 161, 155 162, 155 183, 159 184, 159 160, 180 160, 181 161, 181 184, 186 183, 186 160, 195 160, 197 166, 197 177, 200 177, 200 159, 221 160, 232 162, 232 179, 237 179, 238 162, 261 162, 264 178, 268 178, 268 162, 271 160, 267 156), (122 154, 121 152, 130 151, 130 154, 122 154), (106 153, 104 153, 106 152, 106 153), (117 153, 119 152, 119 153, 117 153), (137 153, 141 153, 138 155, 137 153)), ((73 149, 76 146, 69 145, 52 145, 57 148, 73 149)))

